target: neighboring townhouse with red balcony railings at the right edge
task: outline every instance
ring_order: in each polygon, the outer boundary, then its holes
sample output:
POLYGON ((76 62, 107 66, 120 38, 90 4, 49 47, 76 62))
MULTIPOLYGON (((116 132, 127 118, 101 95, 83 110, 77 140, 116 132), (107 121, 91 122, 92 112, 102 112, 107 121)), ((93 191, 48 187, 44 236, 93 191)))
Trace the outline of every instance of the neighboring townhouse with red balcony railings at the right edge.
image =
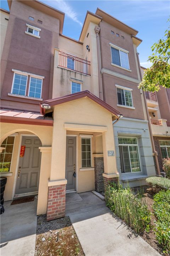
MULTIPOLYGON (((145 70, 145 67, 141 67, 142 75, 145 70)), ((159 169, 164 172, 163 158, 170 157, 170 88, 160 87, 158 92, 145 94, 159 169)))

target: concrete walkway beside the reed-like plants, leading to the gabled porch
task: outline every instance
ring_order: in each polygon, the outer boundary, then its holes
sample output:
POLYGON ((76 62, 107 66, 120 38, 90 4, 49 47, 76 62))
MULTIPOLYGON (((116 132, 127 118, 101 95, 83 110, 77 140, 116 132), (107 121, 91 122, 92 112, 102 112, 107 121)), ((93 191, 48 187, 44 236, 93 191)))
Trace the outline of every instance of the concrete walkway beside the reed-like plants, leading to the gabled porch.
POLYGON ((86 256, 160 256, 127 225, 122 224, 92 192, 80 193, 83 201, 68 203, 70 217, 86 256))

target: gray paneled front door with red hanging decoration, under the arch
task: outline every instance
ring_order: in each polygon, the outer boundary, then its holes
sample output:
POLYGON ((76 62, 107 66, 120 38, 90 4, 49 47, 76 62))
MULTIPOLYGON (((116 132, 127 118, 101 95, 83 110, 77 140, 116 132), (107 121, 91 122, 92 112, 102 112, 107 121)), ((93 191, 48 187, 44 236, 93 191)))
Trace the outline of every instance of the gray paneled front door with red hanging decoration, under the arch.
POLYGON ((41 141, 36 136, 23 136, 21 146, 26 147, 24 156, 19 157, 15 195, 36 192, 39 186, 41 141))

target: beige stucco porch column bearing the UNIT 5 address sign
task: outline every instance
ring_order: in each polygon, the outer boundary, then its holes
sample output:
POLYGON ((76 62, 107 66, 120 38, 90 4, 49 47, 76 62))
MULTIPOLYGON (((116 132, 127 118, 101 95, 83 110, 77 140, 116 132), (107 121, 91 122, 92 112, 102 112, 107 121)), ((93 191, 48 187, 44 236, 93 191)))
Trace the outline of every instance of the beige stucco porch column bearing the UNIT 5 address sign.
POLYGON ((104 182, 109 179, 110 181, 117 181, 119 173, 116 166, 114 136, 112 123, 108 125, 108 130, 102 134, 103 140, 103 158, 104 158, 104 182), (108 151, 114 151, 114 156, 109 156, 108 151))

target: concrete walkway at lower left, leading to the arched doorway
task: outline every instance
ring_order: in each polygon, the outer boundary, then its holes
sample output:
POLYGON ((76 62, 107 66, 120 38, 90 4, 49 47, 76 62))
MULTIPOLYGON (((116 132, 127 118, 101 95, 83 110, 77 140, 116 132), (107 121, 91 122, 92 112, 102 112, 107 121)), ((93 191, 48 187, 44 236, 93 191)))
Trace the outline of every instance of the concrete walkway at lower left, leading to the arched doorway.
POLYGON ((34 256, 37 200, 18 205, 11 202, 4 203, 1 214, 1 256, 34 256))

